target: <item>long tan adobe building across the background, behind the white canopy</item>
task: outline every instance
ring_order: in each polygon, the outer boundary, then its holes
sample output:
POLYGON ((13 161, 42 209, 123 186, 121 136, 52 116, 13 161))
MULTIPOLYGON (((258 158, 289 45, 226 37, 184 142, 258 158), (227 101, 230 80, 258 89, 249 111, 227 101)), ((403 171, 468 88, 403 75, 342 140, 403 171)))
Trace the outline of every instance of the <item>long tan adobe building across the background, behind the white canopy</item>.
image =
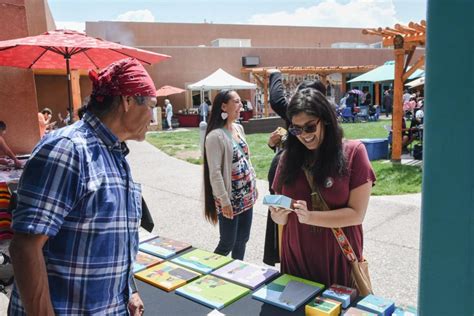
MULTIPOLYGON (((186 89, 219 68, 255 82, 243 69, 246 58, 251 60, 249 67, 378 66, 393 59, 393 50, 380 48, 377 37, 363 35, 361 28, 100 21, 87 22, 86 33, 172 56, 149 68, 157 88, 172 85, 186 89)), ((255 92, 239 93, 255 102, 255 92)), ((169 99, 179 111, 199 105, 199 94, 187 91, 169 99)))

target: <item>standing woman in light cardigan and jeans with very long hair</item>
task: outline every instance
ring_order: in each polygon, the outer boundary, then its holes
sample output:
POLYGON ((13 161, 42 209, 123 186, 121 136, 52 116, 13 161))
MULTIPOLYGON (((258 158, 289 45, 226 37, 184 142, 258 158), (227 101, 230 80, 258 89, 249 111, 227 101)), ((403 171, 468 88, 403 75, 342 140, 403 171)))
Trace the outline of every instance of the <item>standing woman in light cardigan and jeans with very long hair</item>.
POLYGON ((257 200, 255 171, 241 125, 242 102, 235 91, 219 92, 213 102, 204 148, 205 216, 219 222, 215 253, 243 259, 257 200))

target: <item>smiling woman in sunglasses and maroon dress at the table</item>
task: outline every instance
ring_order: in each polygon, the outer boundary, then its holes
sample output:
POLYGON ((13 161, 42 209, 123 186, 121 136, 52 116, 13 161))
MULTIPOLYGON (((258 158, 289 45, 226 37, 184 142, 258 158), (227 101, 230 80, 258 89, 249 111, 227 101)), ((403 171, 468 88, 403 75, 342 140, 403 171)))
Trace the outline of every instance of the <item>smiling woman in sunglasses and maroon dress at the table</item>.
POLYGON ((367 151, 360 141, 343 140, 335 111, 319 91, 298 91, 287 114, 290 135, 273 188, 295 200, 294 211, 271 209, 273 220, 284 225, 282 273, 326 286, 354 287, 350 263, 331 228, 343 228, 362 260, 362 222, 375 182, 367 151), (304 169, 313 176, 313 186, 318 187, 330 211, 311 211, 312 191, 304 169))

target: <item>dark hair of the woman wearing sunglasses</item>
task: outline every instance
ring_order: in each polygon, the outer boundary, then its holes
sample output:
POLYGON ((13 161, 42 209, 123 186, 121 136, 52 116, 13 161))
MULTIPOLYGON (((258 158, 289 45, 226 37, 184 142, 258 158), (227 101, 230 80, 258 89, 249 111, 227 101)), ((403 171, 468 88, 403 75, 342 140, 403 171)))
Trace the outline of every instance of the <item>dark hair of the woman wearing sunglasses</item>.
POLYGON ((317 185, 323 185, 329 176, 344 175, 346 160, 342 146, 343 131, 331 104, 321 92, 303 89, 297 91, 291 98, 287 117, 291 121, 293 116, 300 113, 321 120, 320 126, 324 126, 323 140, 319 148, 312 151, 308 150, 296 136, 289 134, 279 183, 293 183, 301 168, 308 162, 312 162, 309 168, 317 185))

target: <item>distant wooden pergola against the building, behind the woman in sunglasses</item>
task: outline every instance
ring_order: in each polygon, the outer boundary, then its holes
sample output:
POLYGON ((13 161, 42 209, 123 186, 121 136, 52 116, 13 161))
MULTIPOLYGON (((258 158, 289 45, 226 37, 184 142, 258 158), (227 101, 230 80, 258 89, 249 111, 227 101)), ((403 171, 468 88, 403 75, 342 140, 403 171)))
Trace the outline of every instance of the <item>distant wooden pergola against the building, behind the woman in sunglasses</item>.
POLYGON ((369 70, 376 68, 376 65, 366 66, 327 66, 327 67, 260 67, 260 68, 242 68, 242 73, 252 74, 255 78, 255 82, 263 90, 263 108, 264 116, 267 117, 268 111, 268 78, 270 76, 269 69, 278 69, 282 74, 288 75, 309 75, 317 74, 321 78, 321 81, 326 84, 327 76, 333 73, 342 74, 342 87, 346 85, 347 73, 364 73, 369 70))

